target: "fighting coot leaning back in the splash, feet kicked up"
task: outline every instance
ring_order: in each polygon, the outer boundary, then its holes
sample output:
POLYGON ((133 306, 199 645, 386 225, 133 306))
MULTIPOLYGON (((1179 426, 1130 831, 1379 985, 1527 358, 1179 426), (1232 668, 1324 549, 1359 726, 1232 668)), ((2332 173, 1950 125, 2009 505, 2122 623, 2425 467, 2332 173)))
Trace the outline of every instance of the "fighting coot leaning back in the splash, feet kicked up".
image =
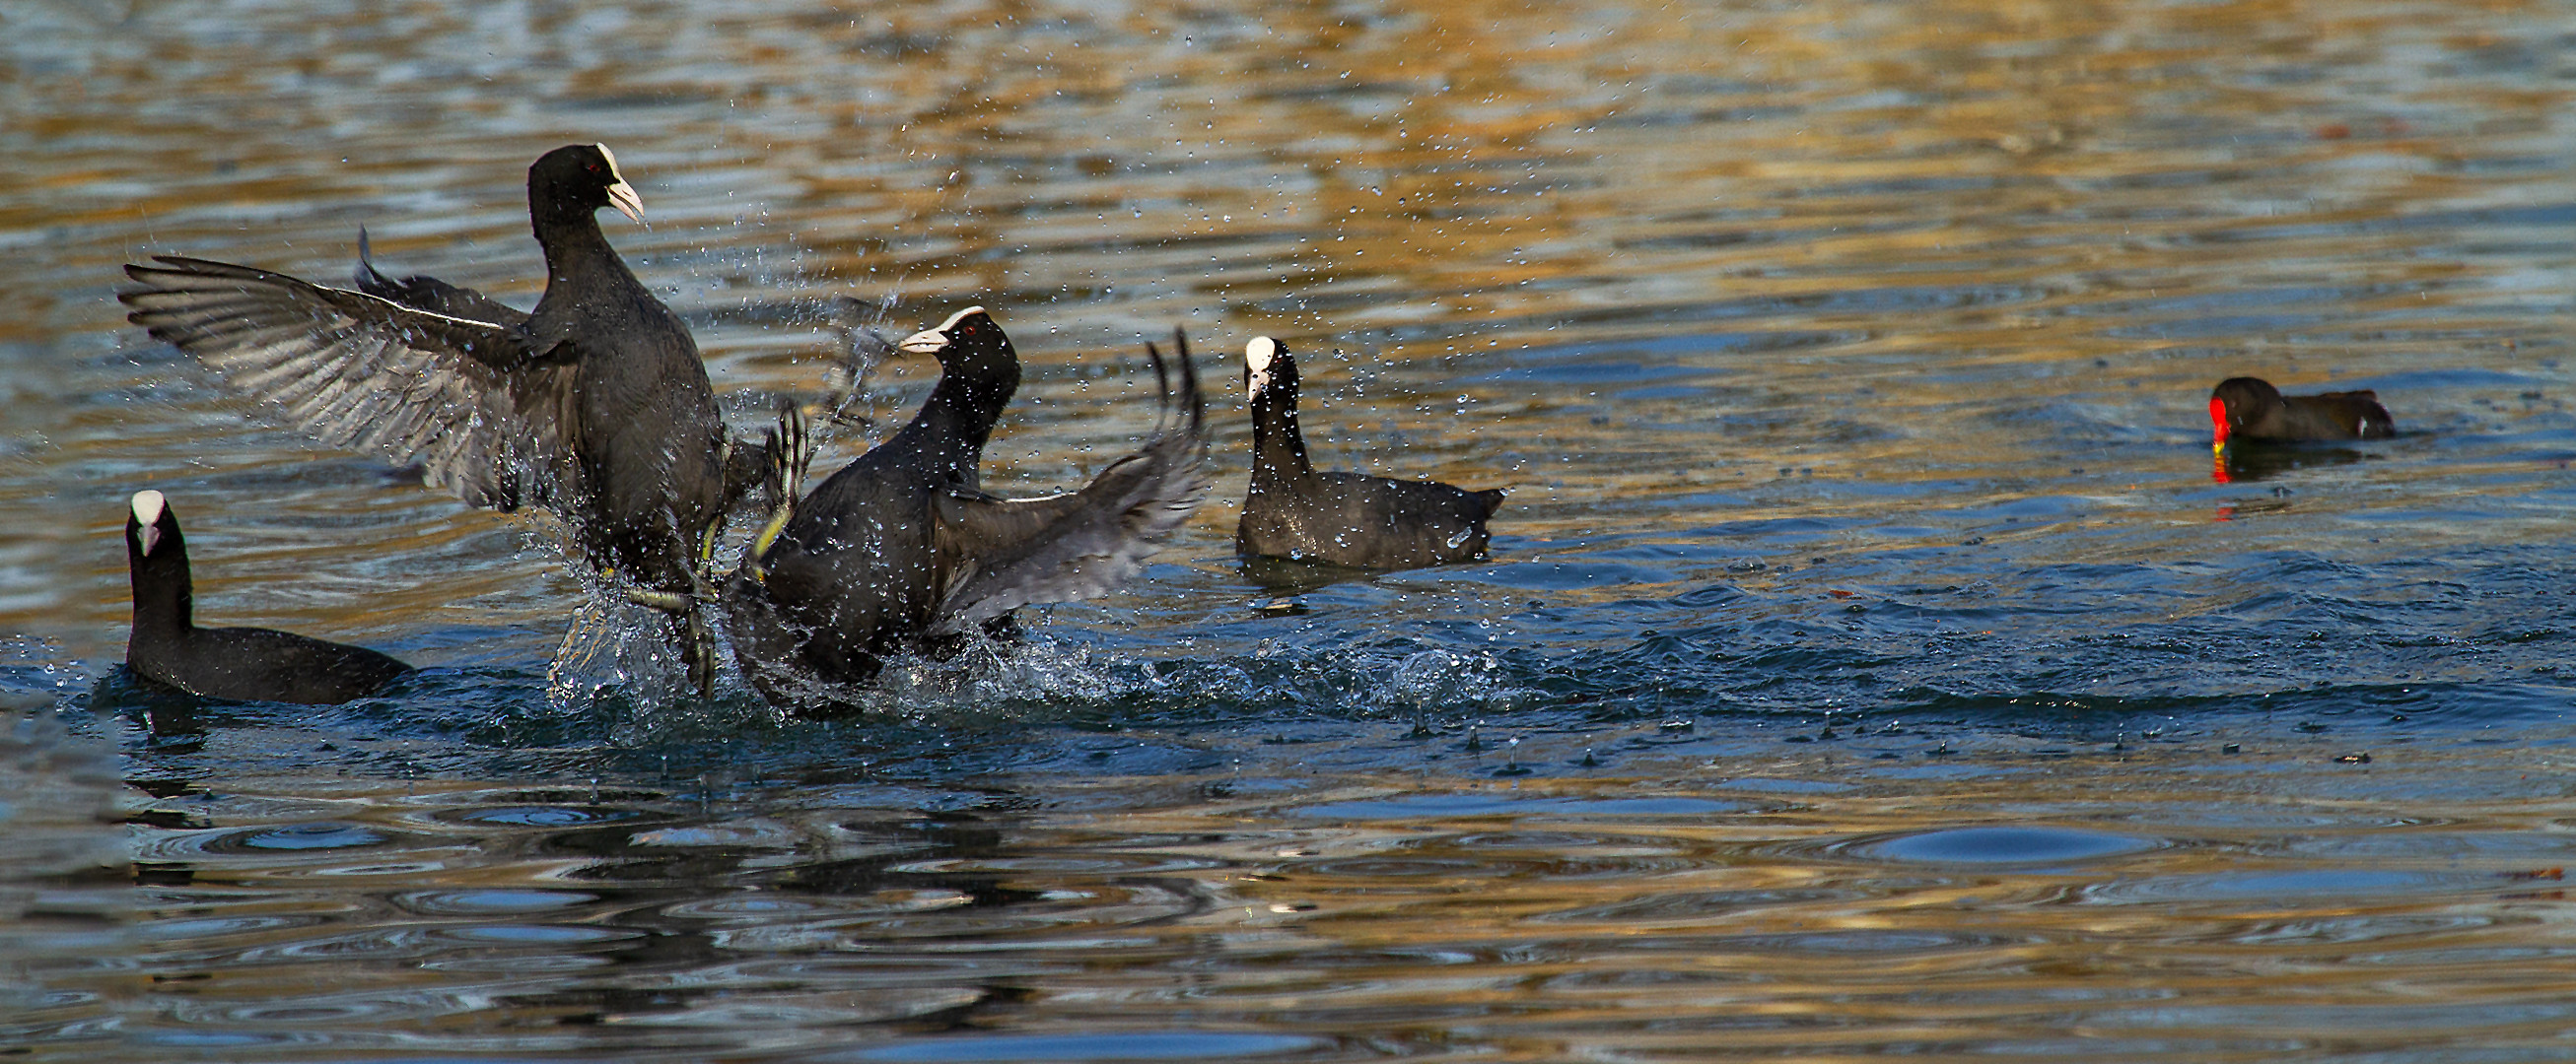
MULTIPOLYGON (((1020 605, 1103 595, 1139 572, 1208 489, 1188 350, 1175 392, 1146 348, 1164 376, 1164 407, 1139 451, 1079 492, 1002 500, 979 489, 976 466, 1020 384, 1010 337, 969 307, 896 348, 938 356, 930 399, 804 500, 786 474, 773 487, 786 508, 724 587, 742 670, 773 701, 814 701, 814 680, 866 683, 886 654, 935 649, 1020 605)), ((796 451, 773 453, 793 466, 796 451)))

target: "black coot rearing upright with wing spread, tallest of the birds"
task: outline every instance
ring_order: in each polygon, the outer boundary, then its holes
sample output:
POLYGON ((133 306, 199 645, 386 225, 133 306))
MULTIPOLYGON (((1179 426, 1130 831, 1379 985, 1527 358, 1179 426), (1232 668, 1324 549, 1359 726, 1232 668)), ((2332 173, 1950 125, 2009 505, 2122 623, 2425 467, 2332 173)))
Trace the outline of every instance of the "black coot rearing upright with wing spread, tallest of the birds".
POLYGON ((118 299, 325 443, 417 461, 471 505, 562 515, 598 572, 672 613, 703 685, 711 644, 690 593, 768 459, 726 441, 698 343, 608 247, 603 206, 644 211, 605 147, 528 167, 546 294, 526 314, 366 260, 348 291, 160 255, 126 268, 139 286, 118 299))

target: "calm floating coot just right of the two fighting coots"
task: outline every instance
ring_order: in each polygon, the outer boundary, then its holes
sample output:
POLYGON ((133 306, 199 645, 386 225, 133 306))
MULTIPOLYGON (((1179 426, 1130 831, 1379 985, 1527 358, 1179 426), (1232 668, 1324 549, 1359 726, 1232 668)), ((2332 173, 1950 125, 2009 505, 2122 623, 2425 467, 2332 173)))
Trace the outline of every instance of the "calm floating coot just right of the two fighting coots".
POLYGON ((1278 340, 1244 345, 1252 394, 1252 489, 1234 551, 1355 569, 1409 569, 1484 556, 1502 489, 1316 471, 1296 423, 1296 361, 1278 340))

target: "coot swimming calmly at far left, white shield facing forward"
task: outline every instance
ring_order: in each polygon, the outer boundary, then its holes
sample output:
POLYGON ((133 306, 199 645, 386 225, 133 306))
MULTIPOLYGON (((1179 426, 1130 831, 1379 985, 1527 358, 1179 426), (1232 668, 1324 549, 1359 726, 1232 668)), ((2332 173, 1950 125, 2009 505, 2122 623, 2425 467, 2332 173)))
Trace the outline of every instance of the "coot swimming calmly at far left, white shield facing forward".
POLYGON ((294 631, 198 629, 188 541, 162 492, 134 492, 126 508, 126 575, 134 582, 126 667, 144 680, 204 698, 343 703, 412 672, 374 649, 294 631))

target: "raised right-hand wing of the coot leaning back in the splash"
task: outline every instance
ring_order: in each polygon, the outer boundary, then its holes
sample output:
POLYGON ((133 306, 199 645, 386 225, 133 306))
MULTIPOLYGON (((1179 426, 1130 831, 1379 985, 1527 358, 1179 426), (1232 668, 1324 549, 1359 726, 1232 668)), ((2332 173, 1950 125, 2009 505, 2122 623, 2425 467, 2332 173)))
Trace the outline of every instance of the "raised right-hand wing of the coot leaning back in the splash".
POLYGON ((999 500, 971 489, 933 497, 933 546, 951 562, 935 631, 963 631, 1020 605, 1105 595, 1139 569, 1208 497, 1206 402, 1180 345, 1180 392, 1154 345, 1162 423, 1146 443, 1079 492, 999 500))

